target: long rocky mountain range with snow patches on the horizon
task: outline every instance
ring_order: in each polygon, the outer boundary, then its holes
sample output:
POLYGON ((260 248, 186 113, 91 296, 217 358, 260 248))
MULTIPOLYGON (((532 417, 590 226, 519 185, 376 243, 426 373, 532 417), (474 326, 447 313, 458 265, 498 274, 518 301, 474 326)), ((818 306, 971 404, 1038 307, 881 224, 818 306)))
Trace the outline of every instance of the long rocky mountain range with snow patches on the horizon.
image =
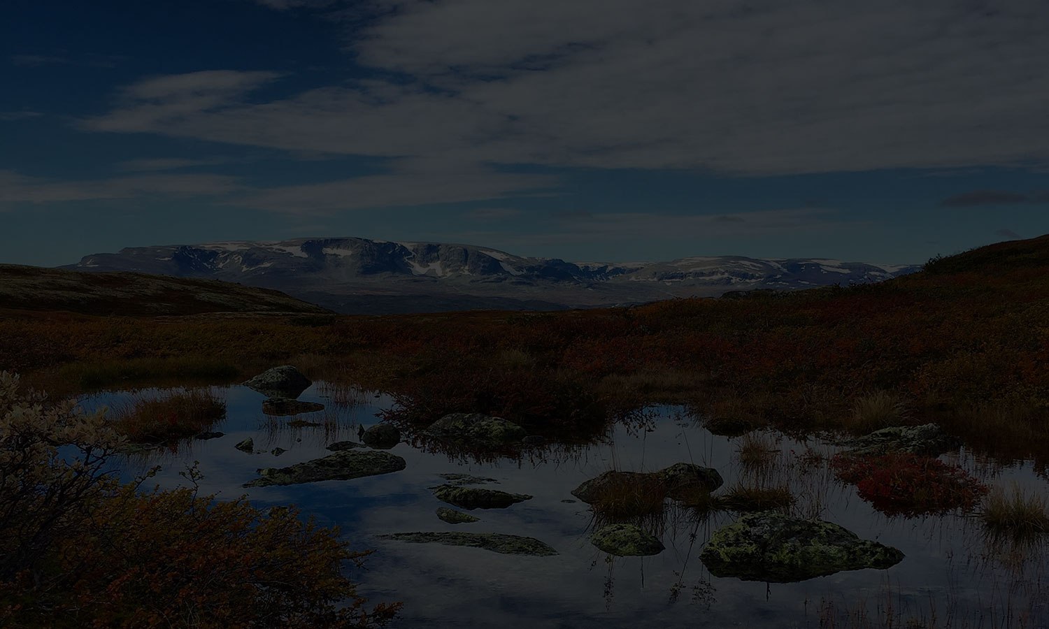
POLYGON ((85 256, 77 270, 134 270, 276 288, 341 312, 560 309, 877 282, 918 266, 742 256, 565 262, 483 246, 365 238, 211 242, 85 256))

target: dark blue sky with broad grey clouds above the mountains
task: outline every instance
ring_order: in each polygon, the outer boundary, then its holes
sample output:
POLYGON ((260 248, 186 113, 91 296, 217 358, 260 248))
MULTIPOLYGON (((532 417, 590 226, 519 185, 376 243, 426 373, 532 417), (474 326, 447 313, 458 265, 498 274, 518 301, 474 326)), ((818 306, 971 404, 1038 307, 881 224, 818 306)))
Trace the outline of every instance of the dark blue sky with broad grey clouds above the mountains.
POLYGON ((4 0, 0 262, 356 236, 921 263, 1049 233, 1045 0, 4 0))

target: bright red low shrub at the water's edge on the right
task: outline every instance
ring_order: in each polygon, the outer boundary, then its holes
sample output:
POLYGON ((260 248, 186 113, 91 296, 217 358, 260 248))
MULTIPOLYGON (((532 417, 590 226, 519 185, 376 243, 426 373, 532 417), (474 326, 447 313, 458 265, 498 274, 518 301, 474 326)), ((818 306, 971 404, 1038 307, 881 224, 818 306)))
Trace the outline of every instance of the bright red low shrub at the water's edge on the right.
POLYGON ((915 454, 835 455, 838 479, 854 483, 859 497, 889 516, 919 516, 972 508, 987 486, 957 465, 915 454))

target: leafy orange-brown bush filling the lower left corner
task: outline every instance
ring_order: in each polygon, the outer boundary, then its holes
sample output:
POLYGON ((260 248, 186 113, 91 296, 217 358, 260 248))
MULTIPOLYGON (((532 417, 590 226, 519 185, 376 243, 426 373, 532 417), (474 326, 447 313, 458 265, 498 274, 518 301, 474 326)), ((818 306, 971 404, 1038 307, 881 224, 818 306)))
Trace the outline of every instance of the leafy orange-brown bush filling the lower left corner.
POLYGON ((47 407, 0 372, 0 626, 366 627, 336 528, 193 489, 141 492, 107 475, 123 442, 102 413, 47 407), (70 444, 78 454, 60 447, 70 444))

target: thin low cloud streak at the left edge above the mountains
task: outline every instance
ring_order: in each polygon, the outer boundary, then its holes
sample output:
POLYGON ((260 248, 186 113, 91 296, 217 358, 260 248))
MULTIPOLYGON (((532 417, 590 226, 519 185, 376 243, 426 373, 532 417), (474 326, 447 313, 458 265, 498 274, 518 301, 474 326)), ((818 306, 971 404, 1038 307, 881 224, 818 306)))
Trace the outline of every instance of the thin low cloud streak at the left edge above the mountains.
POLYGON ((0 171, 0 209, 14 203, 98 199, 226 195, 243 187, 233 177, 211 174, 146 175, 81 181, 48 181, 0 171))

